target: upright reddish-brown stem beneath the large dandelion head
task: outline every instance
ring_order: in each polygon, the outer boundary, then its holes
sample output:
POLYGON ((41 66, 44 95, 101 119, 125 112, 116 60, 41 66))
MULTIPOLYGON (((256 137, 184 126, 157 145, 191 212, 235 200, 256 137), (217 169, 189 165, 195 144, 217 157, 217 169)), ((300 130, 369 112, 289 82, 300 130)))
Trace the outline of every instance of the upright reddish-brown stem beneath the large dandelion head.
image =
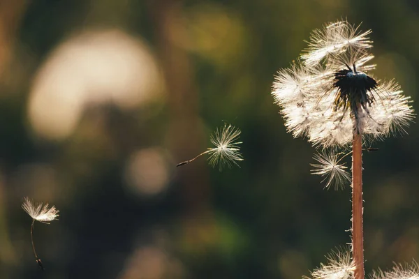
POLYGON ((353 133, 352 145, 352 256, 355 279, 364 279, 364 236, 362 230, 362 135, 353 133))

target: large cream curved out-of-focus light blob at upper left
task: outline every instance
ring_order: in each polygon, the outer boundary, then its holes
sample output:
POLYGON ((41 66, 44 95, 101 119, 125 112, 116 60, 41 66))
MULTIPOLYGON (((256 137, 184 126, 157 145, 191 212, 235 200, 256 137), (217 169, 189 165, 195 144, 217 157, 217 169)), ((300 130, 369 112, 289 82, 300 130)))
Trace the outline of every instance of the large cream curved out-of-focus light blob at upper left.
POLYGON ((38 135, 63 139, 86 105, 132 109, 159 97, 162 84, 142 40, 119 30, 84 31, 59 45, 36 73, 29 121, 38 135))

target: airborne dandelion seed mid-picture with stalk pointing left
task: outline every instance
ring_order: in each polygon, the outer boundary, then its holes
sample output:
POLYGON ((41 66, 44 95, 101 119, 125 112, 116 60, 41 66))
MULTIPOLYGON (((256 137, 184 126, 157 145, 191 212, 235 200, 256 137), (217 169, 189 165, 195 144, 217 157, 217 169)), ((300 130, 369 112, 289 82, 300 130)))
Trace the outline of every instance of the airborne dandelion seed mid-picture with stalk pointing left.
POLYGON ((240 153, 239 144, 242 142, 237 142, 240 137, 240 129, 235 128, 234 126, 225 124, 223 128, 216 128, 214 134, 211 135, 211 143, 214 144, 214 148, 209 148, 207 151, 200 153, 198 156, 191 160, 184 161, 177 164, 177 167, 181 165, 186 165, 193 162, 196 158, 203 156, 204 154, 209 154, 208 163, 215 167, 219 164, 219 169, 225 166, 232 167, 237 165, 240 167, 236 161, 242 161, 242 153, 240 153))

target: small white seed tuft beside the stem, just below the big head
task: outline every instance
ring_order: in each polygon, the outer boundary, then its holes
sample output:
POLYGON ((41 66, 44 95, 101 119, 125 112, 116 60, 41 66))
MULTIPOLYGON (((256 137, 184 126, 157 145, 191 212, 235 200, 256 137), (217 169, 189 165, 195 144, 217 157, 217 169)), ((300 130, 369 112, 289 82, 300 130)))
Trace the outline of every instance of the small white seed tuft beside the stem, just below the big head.
POLYGON ((344 164, 339 164, 343 156, 343 153, 335 153, 334 151, 314 154, 313 158, 318 163, 310 164, 315 168, 311 170, 311 174, 324 176, 325 188, 344 188, 345 183, 351 182, 351 176, 346 171, 347 167, 344 164))

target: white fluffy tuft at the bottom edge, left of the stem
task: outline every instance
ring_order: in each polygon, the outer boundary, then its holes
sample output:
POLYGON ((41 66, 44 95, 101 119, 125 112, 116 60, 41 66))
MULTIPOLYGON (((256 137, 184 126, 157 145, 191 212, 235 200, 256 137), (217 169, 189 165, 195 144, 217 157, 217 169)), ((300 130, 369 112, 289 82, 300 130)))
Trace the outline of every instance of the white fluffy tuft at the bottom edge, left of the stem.
POLYGON ((351 260, 351 253, 348 250, 337 250, 330 252, 327 264, 320 264, 320 267, 311 272, 313 279, 352 279, 355 271, 355 264, 351 260))

